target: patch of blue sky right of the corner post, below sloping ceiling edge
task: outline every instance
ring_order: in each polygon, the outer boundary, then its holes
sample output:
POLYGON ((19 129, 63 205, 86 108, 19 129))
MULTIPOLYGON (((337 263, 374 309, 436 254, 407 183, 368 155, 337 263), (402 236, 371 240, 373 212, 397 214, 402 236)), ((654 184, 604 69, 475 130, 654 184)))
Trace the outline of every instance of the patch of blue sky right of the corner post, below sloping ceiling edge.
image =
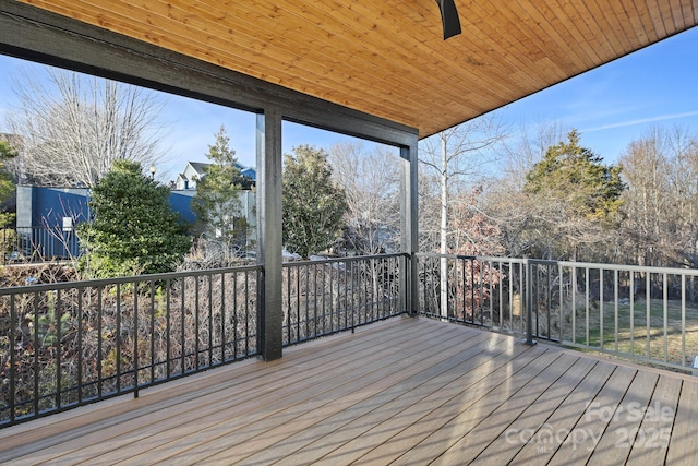
POLYGON ((698 132, 698 28, 510 104, 502 115, 575 128, 607 163, 652 126, 698 132))

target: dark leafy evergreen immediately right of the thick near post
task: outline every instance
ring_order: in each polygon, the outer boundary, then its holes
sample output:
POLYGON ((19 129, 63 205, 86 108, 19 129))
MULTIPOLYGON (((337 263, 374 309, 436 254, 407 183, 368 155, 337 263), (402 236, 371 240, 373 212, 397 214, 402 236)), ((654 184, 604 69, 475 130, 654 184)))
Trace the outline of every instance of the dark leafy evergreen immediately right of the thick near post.
POLYGON ((341 236, 347 201, 345 191, 332 180, 324 150, 301 145, 293 152, 284 157, 284 246, 308 258, 325 251, 341 236))

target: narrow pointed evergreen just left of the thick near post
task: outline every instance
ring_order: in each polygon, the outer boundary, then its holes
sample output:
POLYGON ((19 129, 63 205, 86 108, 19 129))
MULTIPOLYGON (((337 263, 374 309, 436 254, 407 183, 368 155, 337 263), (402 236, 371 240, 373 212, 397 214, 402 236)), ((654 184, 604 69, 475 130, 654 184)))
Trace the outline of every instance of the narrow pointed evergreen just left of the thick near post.
POLYGON ((200 232, 230 248, 245 241, 248 225, 240 215, 240 191, 250 189, 252 180, 240 172, 225 127, 221 126, 215 136, 216 142, 208 146, 206 154, 212 165, 196 183, 191 208, 200 232))

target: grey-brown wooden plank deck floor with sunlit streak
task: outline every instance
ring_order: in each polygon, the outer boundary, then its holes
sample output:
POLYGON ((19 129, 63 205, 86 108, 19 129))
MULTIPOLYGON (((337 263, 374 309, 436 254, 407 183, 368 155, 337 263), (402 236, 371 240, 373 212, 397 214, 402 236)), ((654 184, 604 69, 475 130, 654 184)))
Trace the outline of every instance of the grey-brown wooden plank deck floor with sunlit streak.
POLYGON ((698 384, 396 319, 0 431, 0 464, 697 464, 698 384))

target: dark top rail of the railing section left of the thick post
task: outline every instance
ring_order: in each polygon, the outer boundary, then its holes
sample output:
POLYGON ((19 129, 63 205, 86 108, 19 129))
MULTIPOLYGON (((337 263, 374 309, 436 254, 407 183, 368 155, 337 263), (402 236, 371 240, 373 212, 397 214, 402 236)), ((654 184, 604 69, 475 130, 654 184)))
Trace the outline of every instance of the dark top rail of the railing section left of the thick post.
POLYGON ((241 265, 237 267, 207 268, 202 271, 168 272, 163 274, 133 275, 129 277, 115 277, 115 278, 89 279, 89 280, 59 282, 59 283, 40 284, 40 285, 14 286, 14 287, 0 288, 0 296, 16 295, 22 292, 41 292, 41 291, 50 291, 55 289, 91 288, 91 287, 96 288, 100 286, 116 285, 116 284, 160 282, 160 280, 177 279, 182 277, 218 275, 218 274, 228 274, 228 273, 234 273, 234 272, 252 272, 252 271, 261 271, 261 270, 263 270, 262 265, 241 265))

